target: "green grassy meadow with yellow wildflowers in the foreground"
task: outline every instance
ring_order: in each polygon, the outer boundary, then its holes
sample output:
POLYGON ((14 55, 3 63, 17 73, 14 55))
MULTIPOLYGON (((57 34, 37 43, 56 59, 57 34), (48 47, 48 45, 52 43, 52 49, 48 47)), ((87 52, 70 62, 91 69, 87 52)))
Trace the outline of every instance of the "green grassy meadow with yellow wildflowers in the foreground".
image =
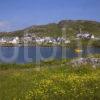
POLYGON ((0 100, 100 100, 99 68, 72 68, 65 61, 11 66, 0 67, 0 100))

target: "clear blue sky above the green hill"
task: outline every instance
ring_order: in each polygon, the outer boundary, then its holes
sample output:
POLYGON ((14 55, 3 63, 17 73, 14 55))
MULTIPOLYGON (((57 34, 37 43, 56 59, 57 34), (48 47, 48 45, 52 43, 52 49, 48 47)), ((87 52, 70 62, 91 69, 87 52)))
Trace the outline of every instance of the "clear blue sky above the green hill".
POLYGON ((100 0, 0 0, 0 31, 60 20, 100 21, 100 0))

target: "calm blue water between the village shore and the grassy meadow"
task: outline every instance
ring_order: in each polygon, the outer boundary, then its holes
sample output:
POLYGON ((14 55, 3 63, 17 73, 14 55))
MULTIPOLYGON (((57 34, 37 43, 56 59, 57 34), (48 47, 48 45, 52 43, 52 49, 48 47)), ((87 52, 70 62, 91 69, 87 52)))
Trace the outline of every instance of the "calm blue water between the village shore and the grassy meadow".
MULTIPOLYGON (((82 55, 100 54, 100 48, 84 49, 82 55)), ((75 58, 72 48, 62 47, 0 47, 0 61, 9 63, 39 62, 41 60, 75 58)))

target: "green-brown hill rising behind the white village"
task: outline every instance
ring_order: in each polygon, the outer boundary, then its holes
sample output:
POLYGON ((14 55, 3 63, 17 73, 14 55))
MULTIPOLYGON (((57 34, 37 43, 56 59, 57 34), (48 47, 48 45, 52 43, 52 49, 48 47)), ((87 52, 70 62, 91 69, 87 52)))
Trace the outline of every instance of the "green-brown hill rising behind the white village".
POLYGON ((90 32, 95 36, 100 34, 100 22, 88 20, 62 20, 58 23, 50 23, 47 25, 31 26, 23 30, 14 32, 1 32, 0 36, 23 36, 27 32, 36 36, 62 36, 62 28, 66 28, 66 36, 75 36, 75 33, 81 28, 84 32, 90 32))

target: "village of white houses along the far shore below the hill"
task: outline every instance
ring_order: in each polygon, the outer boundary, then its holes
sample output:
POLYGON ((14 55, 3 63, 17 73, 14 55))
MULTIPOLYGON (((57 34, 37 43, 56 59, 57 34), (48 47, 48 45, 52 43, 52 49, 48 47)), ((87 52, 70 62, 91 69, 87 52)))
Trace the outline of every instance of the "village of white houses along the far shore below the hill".
MULTIPOLYGON (((75 39, 95 39, 95 36, 89 32, 79 32, 75 33, 75 39)), ((60 45, 61 43, 69 44, 71 42, 70 39, 66 37, 39 37, 35 35, 31 35, 30 33, 24 34, 23 37, 0 37, 0 44, 24 44, 24 43, 36 43, 36 44, 55 44, 60 45)))

